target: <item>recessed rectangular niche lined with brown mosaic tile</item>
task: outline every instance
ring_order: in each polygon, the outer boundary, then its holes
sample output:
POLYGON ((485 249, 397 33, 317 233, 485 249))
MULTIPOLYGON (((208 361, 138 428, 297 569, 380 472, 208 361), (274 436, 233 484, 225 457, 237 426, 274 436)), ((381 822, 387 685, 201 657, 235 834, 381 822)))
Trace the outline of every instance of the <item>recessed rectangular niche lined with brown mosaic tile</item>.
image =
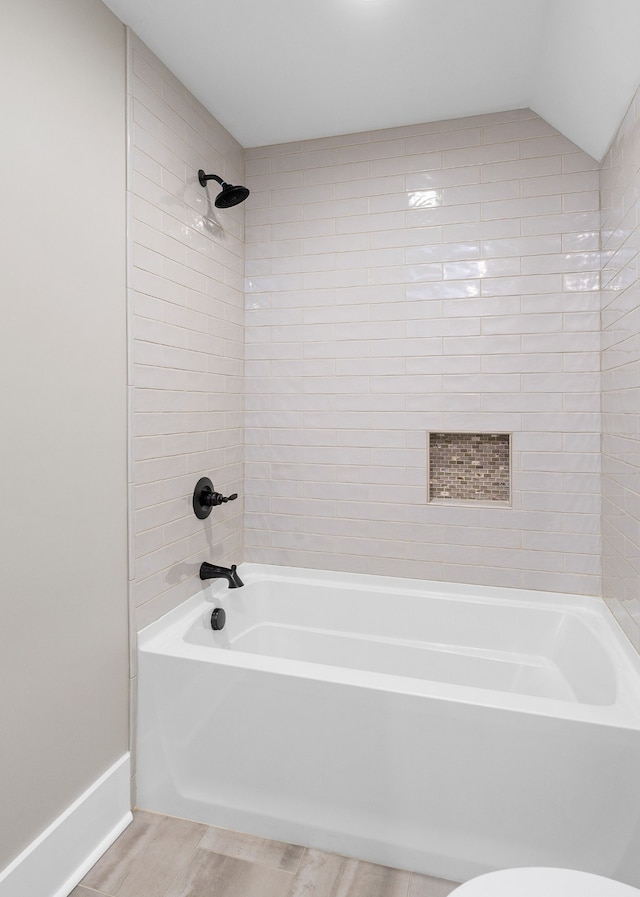
POLYGON ((510 502, 509 433, 429 433, 428 501, 510 502))

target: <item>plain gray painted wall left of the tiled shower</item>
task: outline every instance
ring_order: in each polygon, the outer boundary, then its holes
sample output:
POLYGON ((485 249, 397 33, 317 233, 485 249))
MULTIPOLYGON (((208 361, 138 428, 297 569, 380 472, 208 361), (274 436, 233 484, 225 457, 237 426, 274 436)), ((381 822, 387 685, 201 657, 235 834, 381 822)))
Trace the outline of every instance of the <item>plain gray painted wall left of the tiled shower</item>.
POLYGON ((124 27, 0 29, 0 868, 127 750, 124 27))

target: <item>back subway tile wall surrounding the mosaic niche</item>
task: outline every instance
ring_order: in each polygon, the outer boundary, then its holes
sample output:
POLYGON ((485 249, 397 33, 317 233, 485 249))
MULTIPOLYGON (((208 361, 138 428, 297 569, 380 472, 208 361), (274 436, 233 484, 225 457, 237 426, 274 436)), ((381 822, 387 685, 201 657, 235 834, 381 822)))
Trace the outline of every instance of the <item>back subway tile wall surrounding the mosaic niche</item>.
POLYGON ((599 594, 598 165, 528 110, 245 165, 245 558, 599 594), (428 505, 430 430, 512 507, 428 505))

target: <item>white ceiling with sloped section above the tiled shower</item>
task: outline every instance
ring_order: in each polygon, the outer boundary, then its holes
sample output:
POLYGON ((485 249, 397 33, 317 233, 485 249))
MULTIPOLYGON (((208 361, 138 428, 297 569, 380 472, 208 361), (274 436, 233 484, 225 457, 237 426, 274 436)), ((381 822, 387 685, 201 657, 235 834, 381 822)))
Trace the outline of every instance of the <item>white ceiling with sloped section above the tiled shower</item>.
POLYGON ((594 158, 640 0, 105 0, 245 147, 530 107, 594 158))

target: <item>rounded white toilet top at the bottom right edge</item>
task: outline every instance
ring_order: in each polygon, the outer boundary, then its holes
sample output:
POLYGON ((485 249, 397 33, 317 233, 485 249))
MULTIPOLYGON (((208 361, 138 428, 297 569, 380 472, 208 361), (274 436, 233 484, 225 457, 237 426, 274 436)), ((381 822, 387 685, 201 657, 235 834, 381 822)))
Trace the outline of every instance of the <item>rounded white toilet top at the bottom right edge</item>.
POLYGON ((572 869, 504 869, 466 881, 450 897, 640 897, 619 881, 572 869))

